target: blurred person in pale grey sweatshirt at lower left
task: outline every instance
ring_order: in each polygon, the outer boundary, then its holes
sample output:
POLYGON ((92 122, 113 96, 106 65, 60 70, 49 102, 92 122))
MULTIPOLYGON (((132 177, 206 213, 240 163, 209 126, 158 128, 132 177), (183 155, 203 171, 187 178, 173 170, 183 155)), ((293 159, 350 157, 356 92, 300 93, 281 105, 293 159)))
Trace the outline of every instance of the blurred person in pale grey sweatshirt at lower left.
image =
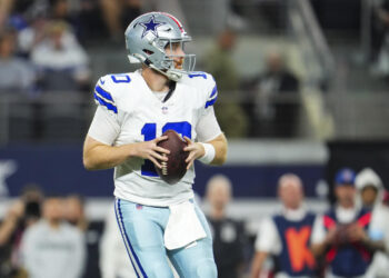
POLYGON ((80 278, 84 268, 81 231, 62 221, 63 200, 43 202, 43 219, 26 230, 21 252, 29 278, 80 278))

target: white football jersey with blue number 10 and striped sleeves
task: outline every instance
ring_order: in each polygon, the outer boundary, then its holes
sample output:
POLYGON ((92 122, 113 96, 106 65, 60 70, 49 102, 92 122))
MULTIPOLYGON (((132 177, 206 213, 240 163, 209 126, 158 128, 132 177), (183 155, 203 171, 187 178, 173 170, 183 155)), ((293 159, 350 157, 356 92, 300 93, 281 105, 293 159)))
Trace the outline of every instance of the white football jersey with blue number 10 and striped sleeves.
MULTIPOLYGON (((116 138, 104 142, 112 146, 152 140, 168 129, 194 141, 205 139, 205 135, 197 133, 201 130, 198 123, 212 109, 217 97, 216 82, 206 72, 184 76, 164 102, 150 90, 140 70, 104 76, 94 88, 96 102, 113 119, 116 138)), ((89 136, 99 140, 94 136, 99 123, 93 120, 92 126, 89 136)), ((215 132, 207 140, 220 135, 220 128, 215 132)), ((150 160, 131 158, 114 168, 114 196, 148 206, 169 206, 193 198, 193 179, 191 167, 178 183, 169 185, 159 178, 150 160)))

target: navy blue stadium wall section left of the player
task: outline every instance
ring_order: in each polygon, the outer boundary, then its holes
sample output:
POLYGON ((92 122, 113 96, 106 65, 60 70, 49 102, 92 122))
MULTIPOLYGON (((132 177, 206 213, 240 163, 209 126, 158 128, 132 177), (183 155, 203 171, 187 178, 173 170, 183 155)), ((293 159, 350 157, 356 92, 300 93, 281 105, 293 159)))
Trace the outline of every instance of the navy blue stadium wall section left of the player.
MULTIPOLYGON (((14 165, 6 180, 9 195, 18 196, 28 183, 38 183, 47 193, 111 196, 112 170, 90 172, 82 166, 81 146, 12 146, 0 149, 1 165, 14 165)), ((1 173, 1 171, 0 171, 1 173)), ((6 177, 0 177, 1 178, 6 177)))

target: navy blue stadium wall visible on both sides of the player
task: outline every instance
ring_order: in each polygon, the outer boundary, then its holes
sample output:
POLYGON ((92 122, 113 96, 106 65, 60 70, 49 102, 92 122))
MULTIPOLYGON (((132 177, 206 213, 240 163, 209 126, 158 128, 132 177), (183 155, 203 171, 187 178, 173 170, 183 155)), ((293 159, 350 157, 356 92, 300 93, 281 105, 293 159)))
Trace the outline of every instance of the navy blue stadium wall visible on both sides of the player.
MULTIPOLYGON (((0 148, 0 192, 11 197, 27 183, 38 183, 48 193, 80 193, 86 197, 110 197, 113 191, 112 170, 87 171, 82 167, 81 146, 13 146, 0 148), (6 167, 8 165, 8 167, 6 167), (13 167, 9 167, 12 165, 13 167), (8 170, 7 170, 7 169, 8 170), (3 170, 1 170, 3 169, 3 170), (3 181, 3 182, 2 182, 3 181)), ((202 196, 208 179, 225 173, 233 182, 233 193, 242 198, 276 197, 277 180, 285 172, 299 175, 308 197, 316 197, 316 186, 323 177, 325 165, 245 165, 223 167, 196 165, 194 190, 202 196)))

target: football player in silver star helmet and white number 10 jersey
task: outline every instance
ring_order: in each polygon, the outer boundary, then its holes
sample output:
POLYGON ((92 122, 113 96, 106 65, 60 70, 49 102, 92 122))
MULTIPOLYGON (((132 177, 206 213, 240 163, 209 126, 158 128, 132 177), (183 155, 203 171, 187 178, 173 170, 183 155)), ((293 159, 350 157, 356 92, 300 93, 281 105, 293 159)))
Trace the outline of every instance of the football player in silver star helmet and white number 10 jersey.
POLYGON ((173 16, 142 14, 124 36, 129 60, 141 69, 98 80, 83 165, 114 168, 117 220, 137 277, 173 277, 168 257, 180 277, 216 278, 210 230, 192 190, 196 159, 222 165, 227 157, 216 82, 192 71, 196 57, 184 52, 191 38, 173 16), (167 161, 169 150, 157 143, 169 129, 188 143, 188 170, 176 185, 154 168, 167 161))

